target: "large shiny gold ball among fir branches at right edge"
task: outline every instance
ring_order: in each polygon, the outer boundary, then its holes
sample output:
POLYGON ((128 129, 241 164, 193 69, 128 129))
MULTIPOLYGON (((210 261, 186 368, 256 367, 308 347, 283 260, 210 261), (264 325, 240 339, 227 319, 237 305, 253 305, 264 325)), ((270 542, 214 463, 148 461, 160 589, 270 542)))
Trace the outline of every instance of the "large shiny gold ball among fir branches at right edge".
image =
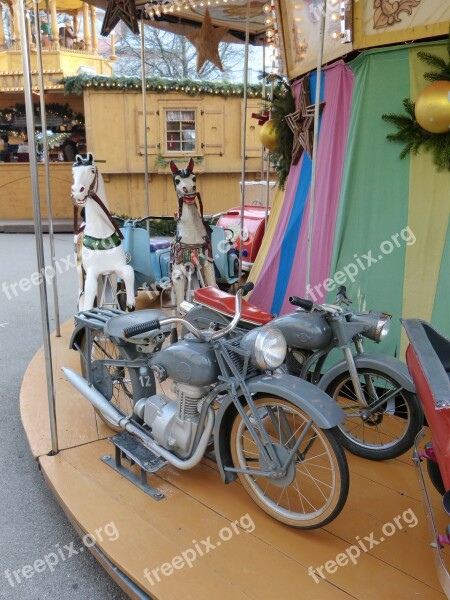
POLYGON ((417 98, 415 114, 426 131, 450 131, 450 81, 435 81, 427 86, 417 98))

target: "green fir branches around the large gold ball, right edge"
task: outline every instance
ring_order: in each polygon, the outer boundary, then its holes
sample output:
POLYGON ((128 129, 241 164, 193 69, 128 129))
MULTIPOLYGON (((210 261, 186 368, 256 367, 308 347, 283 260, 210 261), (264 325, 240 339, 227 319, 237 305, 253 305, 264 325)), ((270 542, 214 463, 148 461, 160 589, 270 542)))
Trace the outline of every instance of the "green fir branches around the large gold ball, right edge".
MULTIPOLYGON (((450 35, 447 43, 447 52, 449 61, 443 58, 429 54, 427 52, 418 52, 417 56, 426 64, 437 69, 424 74, 427 81, 450 81, 450 35)), ((433 163, 438 171, 450 171, 450 132, 431 133, 423 129, 416 121, 415 103, 410 98, 403 100, 405 114, 385 114, 382 119, 392 123, 397 127, 397 133, 391 133, 386 136, 390 142, 404 142, 405 146, 400 154, 400 158, 405 158, 408 154, 417 154, 420 148, 429 151, 433 155, 433 163)))

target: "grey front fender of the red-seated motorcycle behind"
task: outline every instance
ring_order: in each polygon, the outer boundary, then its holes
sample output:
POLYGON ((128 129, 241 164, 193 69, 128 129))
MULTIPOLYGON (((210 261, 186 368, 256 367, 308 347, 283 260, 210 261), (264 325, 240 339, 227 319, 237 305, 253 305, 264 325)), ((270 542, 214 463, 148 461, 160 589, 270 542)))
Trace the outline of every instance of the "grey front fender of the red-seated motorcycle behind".
MULTIPOLYGON (((355 354, 353 356, 355 365, 359 369, 374 369, 380 371, 389 377, 392 377, 400 383, 400 385, 407 391, 413 394, 416 393, 416 387, 409 374, 408 368, 405 363, 395 358, 394 356, 385 356, 382 354, 355 354)), ((348 372, 348 365, 346 361, 342 361, 333 365, 319 381, 318 386, 326 391, 330 384, 343 373, 348 372)))

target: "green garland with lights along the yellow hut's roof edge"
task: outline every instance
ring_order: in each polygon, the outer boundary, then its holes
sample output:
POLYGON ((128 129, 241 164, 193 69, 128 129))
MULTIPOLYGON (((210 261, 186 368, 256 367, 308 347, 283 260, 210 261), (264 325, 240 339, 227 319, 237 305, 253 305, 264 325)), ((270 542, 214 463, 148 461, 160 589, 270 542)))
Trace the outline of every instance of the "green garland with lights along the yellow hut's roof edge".
MULTIPOLYGON (((139 77, 105 77, 100 75, 77 75, 65 77, 58 83, 64 85, 65 94, 81 94, 86 89, 134 91, 142 88, 139 77)), ((151 92, 182 92, 188 96, 210 94, 215 96, 244 95, 244 85, 228 81, 195 81, 193 79, 165 79, 149 77, 146 79, 146 89, 151 92)), ((261 97, 260 85, 248 85, 247 94, 251 98, 261 97)))

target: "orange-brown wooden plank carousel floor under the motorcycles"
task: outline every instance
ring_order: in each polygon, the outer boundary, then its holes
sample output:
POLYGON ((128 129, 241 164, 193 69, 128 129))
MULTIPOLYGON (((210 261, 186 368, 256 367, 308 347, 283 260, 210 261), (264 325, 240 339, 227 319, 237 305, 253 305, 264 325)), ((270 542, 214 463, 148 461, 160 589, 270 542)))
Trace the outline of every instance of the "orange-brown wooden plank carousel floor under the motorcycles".
MULTIPOLYGON (((59 453, 50 455, 42 349, 24 377, 22 422, 68 519, 81 537, 90 534, 90 550, 130 598, 445 599, 412 452, 380 463, 348 454, 347 504, 321 530, 274 521, 239 483, 224 485, 208 459, 191 471, 166 466, 149 475, 148 483, 164 495, 156 500, 102 460, 113 453, 113 432, 61 372, 62 366, 79 369, 77 353, 68 349, 72 327, 67 322, 62 337, 52 339, 59 453), (342 555, 352 552, 344 564, 342 555)), ((444 532, 440 498, 431 494, 444 532)))

